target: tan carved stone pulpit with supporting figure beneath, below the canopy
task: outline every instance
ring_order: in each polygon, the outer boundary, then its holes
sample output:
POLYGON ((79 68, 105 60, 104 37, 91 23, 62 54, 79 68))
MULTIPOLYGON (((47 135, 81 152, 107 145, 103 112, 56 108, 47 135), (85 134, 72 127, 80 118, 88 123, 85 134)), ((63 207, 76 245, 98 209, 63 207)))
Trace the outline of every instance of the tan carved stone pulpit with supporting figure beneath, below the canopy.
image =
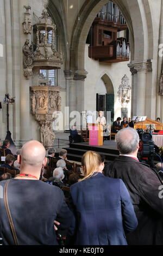
POLYGON ((30 87, 31 112, 40 125, 40 140, 45 148, 52 147, 54 132, 53 114, 61 111, 60 87, 32 86, 30 87))

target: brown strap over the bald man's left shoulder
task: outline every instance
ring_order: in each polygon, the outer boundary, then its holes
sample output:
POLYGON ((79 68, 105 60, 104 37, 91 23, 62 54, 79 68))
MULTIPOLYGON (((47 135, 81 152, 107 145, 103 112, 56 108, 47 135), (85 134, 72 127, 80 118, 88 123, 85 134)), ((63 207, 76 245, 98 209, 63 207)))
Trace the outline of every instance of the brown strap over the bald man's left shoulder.
POLYGON ((8 218, 9 218, 10 228, 11 228, 11 231, 12 231, 12 235, 14 237, 15 245, 18 245, 17 235, 16 235, 14 223, 12 221, 12 217, 11 217, 11 213, 10 213, 10 209, 9 209, 9 203, 8 203, 8 185, 9 185, 9 181, 10 180, 8 180, 5 183, 5 186, 4 186, 4 204, 5 204, 5 209, 7 211, 7 215, 8 215, 8 218))

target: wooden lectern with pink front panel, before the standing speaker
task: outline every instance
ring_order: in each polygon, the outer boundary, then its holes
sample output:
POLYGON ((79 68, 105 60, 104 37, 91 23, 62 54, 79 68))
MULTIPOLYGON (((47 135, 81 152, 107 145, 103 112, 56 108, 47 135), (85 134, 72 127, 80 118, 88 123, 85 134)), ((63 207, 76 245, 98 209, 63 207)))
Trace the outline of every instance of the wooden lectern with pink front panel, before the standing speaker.
POLYGON ((89 128, 89 145, 102 146, 103 145, 103 125, 88 124, 89 128))

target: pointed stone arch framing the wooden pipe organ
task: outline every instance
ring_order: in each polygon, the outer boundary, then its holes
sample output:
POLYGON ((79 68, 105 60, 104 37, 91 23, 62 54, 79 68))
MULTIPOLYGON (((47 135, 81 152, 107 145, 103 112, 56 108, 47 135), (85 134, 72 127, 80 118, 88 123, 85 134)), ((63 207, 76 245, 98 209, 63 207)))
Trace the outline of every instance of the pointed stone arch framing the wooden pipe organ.
MULTIPOLYGON (((87 34, 98 11, 107 2, 108 0, 84 2, 80 10, 80 21, 78 21, 77 17, 72 32, 70 48, 71 70, 84 70, 84 51, 87 34)), ((131 60, 138 61, 152 58, 153 51, 149 55, 149 46, 150 49, 153 49, 153 36, 150 36, 150 41, 149 34, 153 35, 153 33, 152 31, 148 33, 149 27, 152 26, 152 18, 148 1, 143 4, 142 0, 114 0, 114 3, 123 14, 130 31, 131 60)))

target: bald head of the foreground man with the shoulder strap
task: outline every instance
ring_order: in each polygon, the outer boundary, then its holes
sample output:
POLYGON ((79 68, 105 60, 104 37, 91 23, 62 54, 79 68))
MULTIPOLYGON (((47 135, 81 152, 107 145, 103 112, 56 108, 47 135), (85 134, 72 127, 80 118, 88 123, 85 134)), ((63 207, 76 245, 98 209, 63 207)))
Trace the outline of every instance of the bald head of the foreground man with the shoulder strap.
POLYGON ((29 141, 21 150, 21 164, 23 166, 42 166, 45 160, 46 150, 38 141, 29 141))

